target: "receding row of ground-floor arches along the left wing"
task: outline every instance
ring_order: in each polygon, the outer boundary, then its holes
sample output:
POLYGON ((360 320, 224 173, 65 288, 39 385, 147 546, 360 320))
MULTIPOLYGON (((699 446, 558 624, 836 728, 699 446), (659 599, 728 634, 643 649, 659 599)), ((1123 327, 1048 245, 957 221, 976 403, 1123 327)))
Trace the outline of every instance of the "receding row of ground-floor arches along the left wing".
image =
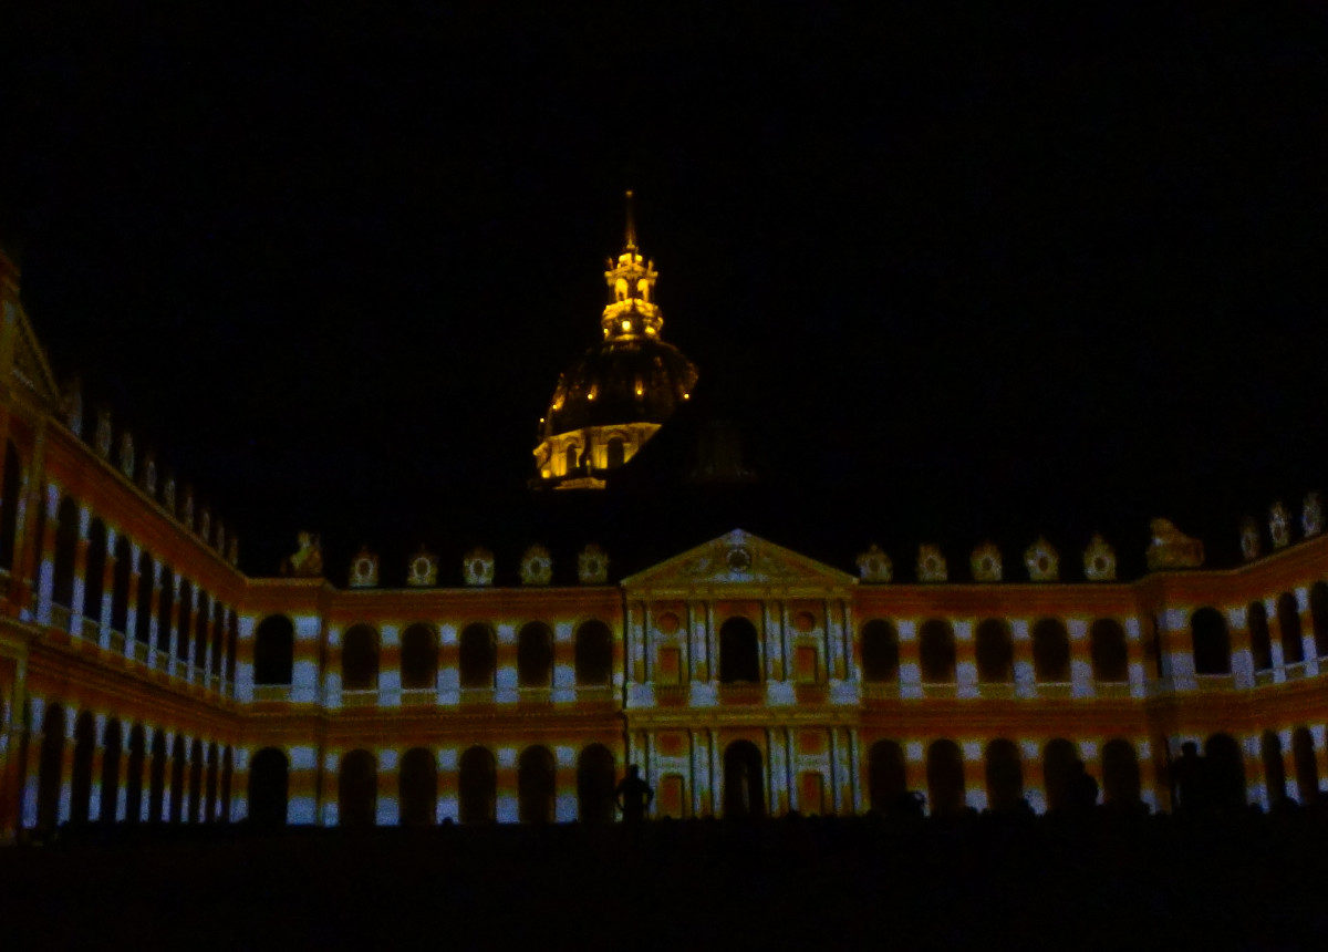
POLYGON ((106 718, 97 763, 97 721, 82 710, 73 724, 68 817, 61 817, 65 790, 69 712, 45 708, 37 749, 35 829, 49 833, 69 823, 230 822, 231 749, 202 738, 186 741, 161 728, 106 718))

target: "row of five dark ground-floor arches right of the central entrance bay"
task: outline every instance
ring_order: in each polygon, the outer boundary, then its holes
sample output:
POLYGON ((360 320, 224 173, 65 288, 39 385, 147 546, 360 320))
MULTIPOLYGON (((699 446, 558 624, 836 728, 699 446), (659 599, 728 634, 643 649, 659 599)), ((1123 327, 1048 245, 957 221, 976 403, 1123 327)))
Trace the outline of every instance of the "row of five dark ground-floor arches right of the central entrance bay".
MULTIPOLYGON (((988 741, 983 749, 983 779, 992 811, 1019 809, 1025 798, 1025 761, 1020 746, 1008 738, 988 741)), ((1139 762, 1134 745, 1113 738, 1102 746, 1102 798, 1106 803, 1134 806, 1141 802, 1139 762)), ((1041 749, 1041 781, 1050 811, 1074 806, 1074 783, 1084 773, 1078 748, 1062 737, 1041 749)), ((904 749, 890 740, 876 741, 867 753, 867 801, 872 811, 890 813, 908 797, 904 749)), ((956 815, 967 809, 964 755, 957 742, 940 738, 926 752, 927 802, 932 815, 956 815)))

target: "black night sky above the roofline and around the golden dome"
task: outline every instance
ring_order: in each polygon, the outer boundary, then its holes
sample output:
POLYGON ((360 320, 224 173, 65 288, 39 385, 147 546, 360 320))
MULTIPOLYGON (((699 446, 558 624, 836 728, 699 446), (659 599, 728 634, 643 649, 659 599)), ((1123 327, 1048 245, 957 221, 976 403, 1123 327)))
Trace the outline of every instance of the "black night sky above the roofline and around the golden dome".
POLYGON ((1222 560, 1240 515, 1328 490, 1311 4, 25 7, 28 311, 251 571, 305 526, 336 559, 511 562, 567 522, 843 567, 1045 531, 1074 562, 1161 514, 1222 560), (523 489, 624 187, 665 337, 764 475, 685 527, 523 489))

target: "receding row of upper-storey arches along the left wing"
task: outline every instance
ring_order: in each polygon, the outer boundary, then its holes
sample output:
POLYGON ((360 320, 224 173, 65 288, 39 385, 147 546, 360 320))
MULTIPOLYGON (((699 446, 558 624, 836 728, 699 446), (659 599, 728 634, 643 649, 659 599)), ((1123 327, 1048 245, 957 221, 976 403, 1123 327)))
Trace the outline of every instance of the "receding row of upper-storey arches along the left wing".
MULTIPOLYGON (((42 522, 39 519, 39 538, 44 532, 42 522)), ((65 494, 54 515, 52 604, 77 611, 98 627, 105 619, 113 632, 126 639, 141 644, 155 641, 158 652, 234 682, 235 612, 202 586, 154 560, 124 532, 108 530, 96 515, 88 522, 86 555, 80 576, 80 523, 78 501, 65 494), (82 601, 77 605, 76 578, 82 580, 82 601)))

